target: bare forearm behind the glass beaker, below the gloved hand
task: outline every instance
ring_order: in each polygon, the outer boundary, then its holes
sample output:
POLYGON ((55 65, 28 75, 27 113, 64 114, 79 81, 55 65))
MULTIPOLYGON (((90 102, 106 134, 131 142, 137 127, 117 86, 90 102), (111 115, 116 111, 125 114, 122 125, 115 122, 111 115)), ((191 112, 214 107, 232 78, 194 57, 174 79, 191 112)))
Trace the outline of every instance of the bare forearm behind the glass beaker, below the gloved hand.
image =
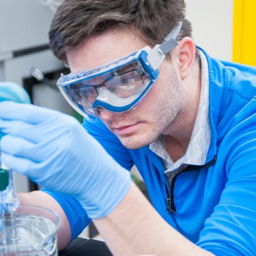
POLYGON ((71 241, 71 227, 64 210, 52 196, 42 191, 18 194, 20 204, 34 205, 51 209, 59 214, 61 223, 57 233, 58 249, 61 250, 71 241))

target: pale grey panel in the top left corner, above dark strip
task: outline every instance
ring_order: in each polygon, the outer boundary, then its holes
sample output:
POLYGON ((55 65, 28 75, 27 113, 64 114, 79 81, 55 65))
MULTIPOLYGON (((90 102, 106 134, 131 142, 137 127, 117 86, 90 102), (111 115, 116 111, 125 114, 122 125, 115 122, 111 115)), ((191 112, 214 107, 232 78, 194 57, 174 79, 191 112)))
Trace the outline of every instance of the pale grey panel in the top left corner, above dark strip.
POLYGON ((48 43, 52 11, 40 0, 0 1, 0 57, 4 52, 48 43))

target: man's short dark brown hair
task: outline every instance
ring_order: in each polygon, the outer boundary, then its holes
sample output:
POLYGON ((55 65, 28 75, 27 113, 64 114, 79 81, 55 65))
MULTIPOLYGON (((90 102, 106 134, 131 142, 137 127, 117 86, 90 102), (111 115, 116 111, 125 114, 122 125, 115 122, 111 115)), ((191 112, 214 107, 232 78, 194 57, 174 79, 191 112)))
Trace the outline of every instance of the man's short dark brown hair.
POLYGON ((68 49, 86 38, 117 28, 134 27, 154 46, 182 20, 180 36, 192 36, 184 0, 64 0, 49 30, 53 54, 67 61, 68 49))

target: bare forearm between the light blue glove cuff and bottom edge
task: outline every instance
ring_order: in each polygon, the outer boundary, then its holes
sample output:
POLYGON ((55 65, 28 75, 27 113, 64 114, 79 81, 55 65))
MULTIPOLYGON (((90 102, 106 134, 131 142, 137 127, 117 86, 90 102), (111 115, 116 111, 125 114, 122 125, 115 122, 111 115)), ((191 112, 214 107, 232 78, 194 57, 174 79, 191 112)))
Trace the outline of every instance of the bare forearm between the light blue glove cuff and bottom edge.
POLYGON ((134 184, 113 212, 93 222, 114 255, 213 255, 167 224, 134 184))

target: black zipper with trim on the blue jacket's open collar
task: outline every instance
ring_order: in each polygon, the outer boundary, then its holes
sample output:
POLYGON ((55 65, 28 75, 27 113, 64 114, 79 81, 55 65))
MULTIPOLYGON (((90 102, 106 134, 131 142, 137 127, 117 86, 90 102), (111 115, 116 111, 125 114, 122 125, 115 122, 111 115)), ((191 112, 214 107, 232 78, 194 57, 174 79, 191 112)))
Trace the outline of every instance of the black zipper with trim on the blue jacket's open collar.
POLYGON ((167 189, 167 199, 166 199, 166 211, 167 213, 176 213, 176 207, 174 204, 174 185, 175 185, 175 180, 177 179, 177 176, 179 176, 180 174, 183 174, 184 172, 190 172, 190 171, 197 171, 200 169, 203 169, 205 167, 209 167, 212 164, 214 164, 217 160, 217 155, 214 155, 214 158, 212 160, 210 160, 208 163, 204 164, 203 166, 192 166, 189 165, 187 166, 184 170, 178 172, 171 181, 171 190, 170 190, 170 194, 168 193, 168 189, 167 189))

